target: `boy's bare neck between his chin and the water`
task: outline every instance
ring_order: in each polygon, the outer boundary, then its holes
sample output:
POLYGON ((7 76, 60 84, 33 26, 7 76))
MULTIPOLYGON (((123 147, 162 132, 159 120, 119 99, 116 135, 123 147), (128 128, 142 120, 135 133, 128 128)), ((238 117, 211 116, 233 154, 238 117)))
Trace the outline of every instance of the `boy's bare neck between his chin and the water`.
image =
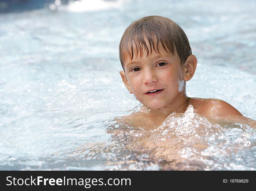
MULTIPOLYGON (((173 101, 171 104, 160 109, 149 109, 150 115, 157 115, 159 117, 168 117, 171 113, 184 113, 190 103, 191 98, 186 94, 182 94, 179 98, 173 101)), ((147 106, 145 106, 147 107, 147 106)), ((148 107, 147 107, 148 108, 148 107)))

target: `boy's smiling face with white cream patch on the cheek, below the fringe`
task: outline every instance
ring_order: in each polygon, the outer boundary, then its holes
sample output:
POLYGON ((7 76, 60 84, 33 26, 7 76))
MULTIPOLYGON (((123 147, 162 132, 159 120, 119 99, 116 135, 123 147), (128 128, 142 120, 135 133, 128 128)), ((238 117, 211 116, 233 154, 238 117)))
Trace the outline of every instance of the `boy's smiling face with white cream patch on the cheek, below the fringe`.
POLYGON ((177 51, 173 55, 160 44, 159 53, 153 51, 147 56, 144 51, 141 58, 138 56, 132 60, 128 56, 125 72, 120 71, 129 92, 151 109, 171 106, 184 95, 183 71, 177 51))

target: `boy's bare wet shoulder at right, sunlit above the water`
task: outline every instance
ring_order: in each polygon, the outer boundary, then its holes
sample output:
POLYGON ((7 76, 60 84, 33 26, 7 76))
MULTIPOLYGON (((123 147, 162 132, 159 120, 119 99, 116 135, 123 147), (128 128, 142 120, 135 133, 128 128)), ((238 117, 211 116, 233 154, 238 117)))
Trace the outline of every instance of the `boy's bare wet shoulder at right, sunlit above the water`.
POLYGON ((210 118, 230 118, 231 116, 243 116, 236 108, 220 99, 191 98, 195 112, 210 118))

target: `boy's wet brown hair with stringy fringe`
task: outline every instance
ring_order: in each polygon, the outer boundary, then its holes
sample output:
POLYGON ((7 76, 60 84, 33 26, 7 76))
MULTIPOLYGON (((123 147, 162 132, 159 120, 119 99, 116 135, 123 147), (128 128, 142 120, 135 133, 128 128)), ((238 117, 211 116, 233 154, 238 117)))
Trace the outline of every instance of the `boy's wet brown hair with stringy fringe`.
POLYGON ((159 53, 159 43, 161 43, 165 51, 173 55, 176 48, 181 65, 192 54, 189 40, 178 24, 166 17, 143 17, 132 22, 121 38, 119 58, 123 69, 127 56, 132 60, 134 56, 136 58, 138 55, 142 57, 144 51, 147 51, 147 56, 152 51, 159 53), (146 41, 149 42, 150 47, 147 47, 146 41))

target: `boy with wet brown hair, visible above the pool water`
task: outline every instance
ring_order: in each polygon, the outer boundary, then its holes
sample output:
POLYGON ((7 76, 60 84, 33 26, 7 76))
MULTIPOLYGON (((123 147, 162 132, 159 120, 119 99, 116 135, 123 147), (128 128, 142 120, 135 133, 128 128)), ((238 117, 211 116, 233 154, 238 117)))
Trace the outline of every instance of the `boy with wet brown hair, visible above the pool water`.
POLYGON ((136 20, 125 30, 119 46, 124 71, 122 81, 130 94, 143 103, 137 113, 122 119, 138 126, 156 127, 171 114, 182 115, 189 105, 208 119, 225 119, 256 126, 237 109, 218 99, 186 96, 186 81, 196 69, 188 38, 182 28, 161 16, 136 20))

